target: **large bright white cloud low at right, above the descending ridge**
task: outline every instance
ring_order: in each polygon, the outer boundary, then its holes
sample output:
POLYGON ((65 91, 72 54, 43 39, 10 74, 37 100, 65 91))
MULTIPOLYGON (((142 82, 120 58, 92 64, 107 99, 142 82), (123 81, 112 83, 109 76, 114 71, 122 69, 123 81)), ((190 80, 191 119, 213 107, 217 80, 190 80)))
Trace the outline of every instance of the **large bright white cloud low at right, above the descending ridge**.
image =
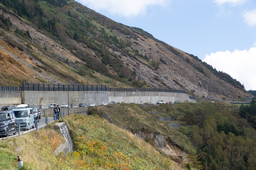
POLYGON ((212 65, 216 70, 226 72, 236 78, 241 84, 244 83, 246 90, 256 90, 256 47, 249 50, 235 49, 230 51, 218 51, 205 55, 204 62, 212 65))

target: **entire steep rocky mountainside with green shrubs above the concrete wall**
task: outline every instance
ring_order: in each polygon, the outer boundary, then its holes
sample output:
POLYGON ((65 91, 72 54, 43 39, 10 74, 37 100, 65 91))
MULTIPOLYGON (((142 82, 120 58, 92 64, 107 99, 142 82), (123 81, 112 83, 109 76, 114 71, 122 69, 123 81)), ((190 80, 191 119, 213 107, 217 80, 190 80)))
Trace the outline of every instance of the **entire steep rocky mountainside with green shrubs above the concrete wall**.
POLYGON ((196 56, 73 0, 7 2, 0 7, 0 85, 111 84, 184 89, 211 100, 252 97, 196 56))

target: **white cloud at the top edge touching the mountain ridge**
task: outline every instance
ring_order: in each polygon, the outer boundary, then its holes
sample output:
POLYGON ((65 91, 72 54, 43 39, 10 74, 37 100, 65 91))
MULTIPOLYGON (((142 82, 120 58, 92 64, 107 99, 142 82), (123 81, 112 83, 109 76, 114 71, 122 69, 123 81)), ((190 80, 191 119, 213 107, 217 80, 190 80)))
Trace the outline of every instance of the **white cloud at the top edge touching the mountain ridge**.
POLYGON ((113 15, 134 17, 143 15, 151 5, 164 5, 169 0, 77 0, 95 11, 108 11, 113 15))

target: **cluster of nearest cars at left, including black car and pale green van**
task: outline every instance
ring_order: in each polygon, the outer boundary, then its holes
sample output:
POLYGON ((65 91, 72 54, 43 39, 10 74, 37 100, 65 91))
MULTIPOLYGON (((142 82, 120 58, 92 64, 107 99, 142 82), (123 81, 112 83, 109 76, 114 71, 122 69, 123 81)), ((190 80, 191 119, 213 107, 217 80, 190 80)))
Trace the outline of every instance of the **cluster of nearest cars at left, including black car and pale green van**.
POLYGON ((41 112, 37 106, 21 104, 16 107, 7 107, 7 110, 0 111, 0 136, 8 137, 17 133, 17 124, 20 129, 35 128, 35 121, 39 122, 41 112))

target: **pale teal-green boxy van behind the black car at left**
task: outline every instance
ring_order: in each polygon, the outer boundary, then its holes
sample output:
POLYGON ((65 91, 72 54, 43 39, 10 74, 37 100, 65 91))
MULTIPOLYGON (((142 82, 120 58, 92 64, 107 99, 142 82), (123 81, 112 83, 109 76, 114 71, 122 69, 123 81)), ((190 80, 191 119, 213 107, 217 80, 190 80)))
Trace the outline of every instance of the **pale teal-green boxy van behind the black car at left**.
POLYGON ((20 129, 35 128, 35 119, 31 107, 16 108, 12 111, 16 117, 16 123, 20 123, 20 129))

